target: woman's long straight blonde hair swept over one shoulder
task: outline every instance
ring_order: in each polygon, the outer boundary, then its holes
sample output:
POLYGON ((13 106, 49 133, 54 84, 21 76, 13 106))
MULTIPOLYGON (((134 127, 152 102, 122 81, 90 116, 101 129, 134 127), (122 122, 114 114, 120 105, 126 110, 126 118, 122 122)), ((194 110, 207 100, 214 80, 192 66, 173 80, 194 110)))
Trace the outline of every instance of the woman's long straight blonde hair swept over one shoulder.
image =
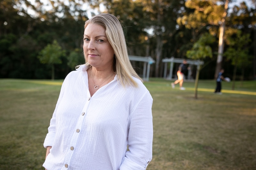
MULTIPOLYGON (((133 85, 136 87, 137 83, 134 81, 132 76, 140 79, 141 81, 142 79, 132 68, 132 64, 127 53, 124 31, 119 20, 114 15, 102 13, 87 20, 85 22, 84 29, 88 24, 100 25, 106 29, 106 36, 114 50, 113 70, 117 74, 118 81, 122 86, 133 85)), ((92 67, 88 62, 86 62, 85 65, 92 67)))

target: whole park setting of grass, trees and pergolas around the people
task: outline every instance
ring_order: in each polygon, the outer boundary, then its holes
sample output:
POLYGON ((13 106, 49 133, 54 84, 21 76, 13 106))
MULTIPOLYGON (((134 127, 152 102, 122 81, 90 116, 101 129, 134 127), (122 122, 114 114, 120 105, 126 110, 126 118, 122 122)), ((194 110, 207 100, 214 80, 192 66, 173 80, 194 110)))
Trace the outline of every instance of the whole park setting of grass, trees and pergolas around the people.
POLYGON ((85 63, 84 23, 98 13, 118 18, 153 98, 147 170, 256 169, 255 0, 4 0, 1 170, 44 170, 61 85, 85 63), (172 83, 184 59, 181 90, 172 83), (221 68, 231 81, 214 93, 221 68))

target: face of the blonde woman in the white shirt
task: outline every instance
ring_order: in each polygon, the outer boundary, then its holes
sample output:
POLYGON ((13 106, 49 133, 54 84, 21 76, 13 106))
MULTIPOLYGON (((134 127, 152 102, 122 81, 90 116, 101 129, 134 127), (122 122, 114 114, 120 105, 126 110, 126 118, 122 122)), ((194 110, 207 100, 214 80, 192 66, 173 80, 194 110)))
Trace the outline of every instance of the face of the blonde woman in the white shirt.
POLYGON ((103 26, 88 24, 84 29, 84 56, 88 63, 100 70, 112 68, 114 50, 103 26))

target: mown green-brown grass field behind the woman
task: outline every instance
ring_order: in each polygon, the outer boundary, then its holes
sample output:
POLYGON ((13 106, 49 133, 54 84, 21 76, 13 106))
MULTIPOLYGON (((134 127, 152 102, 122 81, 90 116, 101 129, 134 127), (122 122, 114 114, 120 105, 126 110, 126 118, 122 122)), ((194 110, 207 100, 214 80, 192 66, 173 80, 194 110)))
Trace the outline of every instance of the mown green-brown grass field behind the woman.
MULTIPOLYGON (((153 159, 147 170, 256 169, 256 81, 200 80, 185 91, 169 80, 144 82, 153 97, 153 159)), ((43 169, 43 142, 61 80, 0 79, 0 169, 43 169)))

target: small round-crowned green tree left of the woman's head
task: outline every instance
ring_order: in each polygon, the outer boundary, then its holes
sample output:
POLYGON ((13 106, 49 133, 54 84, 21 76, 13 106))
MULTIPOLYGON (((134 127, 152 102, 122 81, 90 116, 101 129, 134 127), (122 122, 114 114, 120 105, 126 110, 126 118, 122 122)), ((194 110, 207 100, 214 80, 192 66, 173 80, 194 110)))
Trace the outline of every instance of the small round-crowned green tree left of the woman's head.
POLYGON ((42 64, 49 64, 52 66, 52 80, 54 80, 54 64, 61 64, 61 56, 65 55, 65 50, 62 50, 56 40, 52 44, 48 44, 39 52, 38 59, 42 64))

